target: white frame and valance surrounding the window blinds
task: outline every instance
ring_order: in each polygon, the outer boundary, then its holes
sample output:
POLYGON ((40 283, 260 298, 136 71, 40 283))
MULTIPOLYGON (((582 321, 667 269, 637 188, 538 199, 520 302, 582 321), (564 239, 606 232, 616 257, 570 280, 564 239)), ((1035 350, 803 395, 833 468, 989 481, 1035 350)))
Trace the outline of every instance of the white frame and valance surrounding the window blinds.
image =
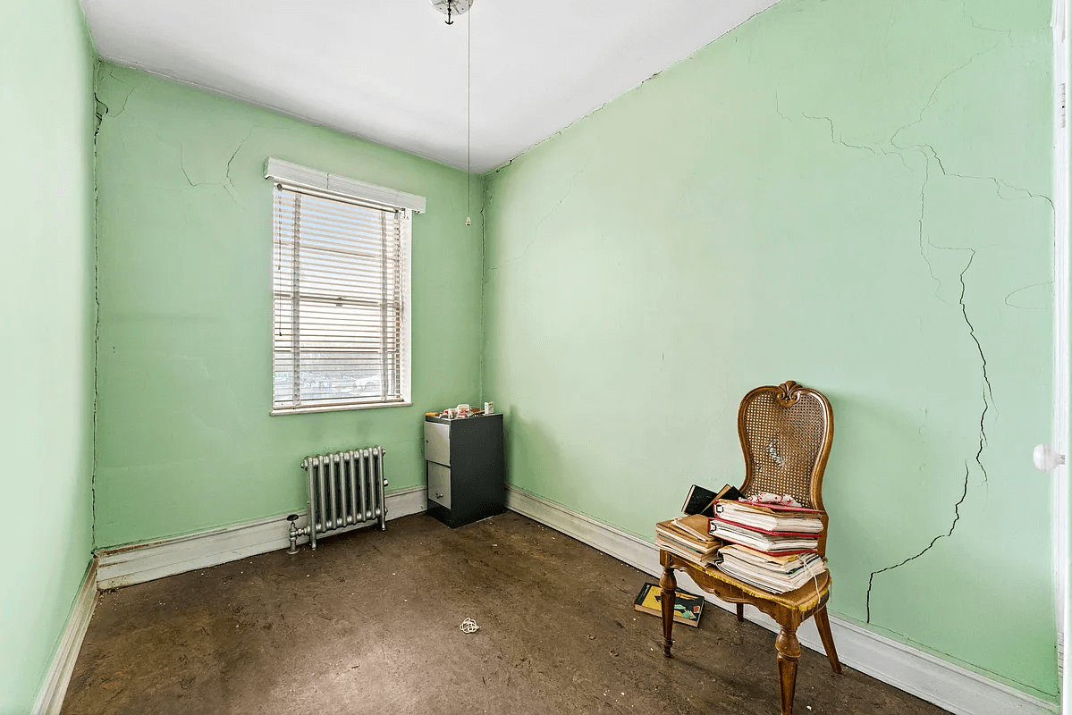
MULTIPOLYGON (((407 194, 386 187, 366 183, 356 179, 328 174, 317 169, 312 169, 280 159, 269 159, 265 166, 265 178, 273 182, 272 195, 274 196, 276 185, 283 189, 313 194, 323 198, 336 198, 339 200, 360 202, 372 206, 381 206, 388 209, 400 210, 401 221, 401 263, 402 263, 402 326, 400 332, 400 397, 401 400, 390 402, 354 402, 330 405, 309 405, 297 407, 276 407, 274 396, 274 338, 270 343, 269 353, 271 355, 272 379, 269 381, 269 404, 270 415, 300 415, 321 412, 342 412, 349 409, 376 409, 379 407, 405 407, 413 405, 411 392, 412 383, 412 314, 413 314, 413 214, 423 213, 426 199, 423 196, 407 194)), ((272 202, 272 212, 274 214, 274 200, 272 202)), ((274 221, 272 221, 274 226, 274 221)), ((273 228, 274 230, 274 228, 273 228)), ((274 240, 274 236, 273 239, 274 240)), ((274 293, 274 262, 271 268, 271 285, 274 293)), ((272 300, 272 334, 276 331, 276 301, 272 300)))

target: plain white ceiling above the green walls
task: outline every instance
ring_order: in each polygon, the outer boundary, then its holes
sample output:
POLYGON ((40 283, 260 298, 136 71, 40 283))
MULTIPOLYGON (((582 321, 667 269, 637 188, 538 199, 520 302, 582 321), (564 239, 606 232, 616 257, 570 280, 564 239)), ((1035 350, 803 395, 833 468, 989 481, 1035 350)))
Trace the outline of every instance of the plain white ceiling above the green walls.
POLYGON ((504 164, 777 0, 84 0, 101 56, 464 168, 504 164))

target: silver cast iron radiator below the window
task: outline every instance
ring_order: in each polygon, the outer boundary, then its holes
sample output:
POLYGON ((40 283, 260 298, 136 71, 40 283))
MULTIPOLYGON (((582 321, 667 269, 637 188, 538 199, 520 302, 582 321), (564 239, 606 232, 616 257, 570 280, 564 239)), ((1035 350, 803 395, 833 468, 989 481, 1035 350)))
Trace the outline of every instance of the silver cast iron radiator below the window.
POLYGON ((327 534, 366 521, 378 521, 387 528, 387 506, 384 503, 383 447, 307 457, 301 468, 309 473, 309 525, 298 528, 298 515, 292 513, 291 549, 296 553, 299 536, 309 535, 316 548, 316 535, 327 534))

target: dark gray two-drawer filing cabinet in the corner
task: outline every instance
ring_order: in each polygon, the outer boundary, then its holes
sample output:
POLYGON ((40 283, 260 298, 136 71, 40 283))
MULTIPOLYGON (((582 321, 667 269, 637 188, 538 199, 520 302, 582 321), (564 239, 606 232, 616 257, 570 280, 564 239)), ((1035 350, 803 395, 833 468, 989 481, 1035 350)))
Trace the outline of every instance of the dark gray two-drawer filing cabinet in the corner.
POLYGON ((453 528, 506 509, 503 416, 425 418, 428 513, 453 528))

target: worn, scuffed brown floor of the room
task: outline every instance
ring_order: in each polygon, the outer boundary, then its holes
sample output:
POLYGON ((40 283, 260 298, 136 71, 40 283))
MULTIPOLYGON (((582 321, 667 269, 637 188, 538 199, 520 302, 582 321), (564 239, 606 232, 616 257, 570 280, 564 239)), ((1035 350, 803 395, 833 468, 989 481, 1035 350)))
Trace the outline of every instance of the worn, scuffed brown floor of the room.
MULTIPOLYGON (((516 513, 406 517, 102 594, 63 713, 778 713, 774 635, 709 605, 668 660, 652 580, 516 513)), ((944 711, 805 649, 794 712, 944 711)))

